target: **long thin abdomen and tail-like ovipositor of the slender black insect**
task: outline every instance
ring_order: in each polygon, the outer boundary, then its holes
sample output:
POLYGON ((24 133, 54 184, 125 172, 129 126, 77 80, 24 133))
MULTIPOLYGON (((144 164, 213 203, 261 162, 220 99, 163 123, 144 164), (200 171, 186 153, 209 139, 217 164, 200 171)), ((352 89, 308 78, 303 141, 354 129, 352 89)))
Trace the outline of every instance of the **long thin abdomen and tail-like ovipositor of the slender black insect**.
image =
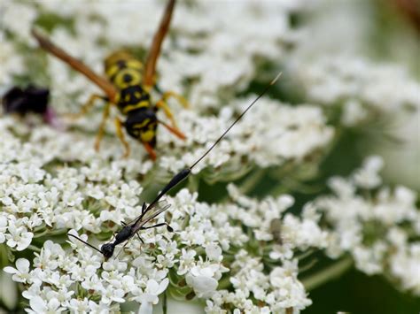
POLYGON ((276 76, 276 78, 274 79, 274 80, 271 80, 270 82, 269 82, 269 84, 267 85, 267 87, 261 92, 261 94, 258 96, 258 97, 256 97, 254 100, 253 100, 253 103, 251 103, 250 105, 248 105, 248 107, 245 109, 245 111, 243 111, 240 115, 239 115, 239 117, 237 117, 237 119, 235 120, 235 121, 233 121, 233 123, 226 129, 226 131, 224 131, 223 132, 223 134, 216 140, 216 142, 214 142, 214 144, 209 148, 209 149, 207 149, 207 151, 201 156, 201 157, 199 157, 198 158, 198 160, 194 163, 194 164, 192 164, 190 167, 188 167, 188 168, 185 168, 185 169, 183 169, 182 171, 180 171, 180 172, 178 172, 177 174, 175 174, 175 176, 174 176, 174 178, 172 178, 172 180, 170 180, 169 181, 169 183, 167 183, 167 185, 164 187, 164 188, 162 188, 162 190, 160 191, 160 193, 159 193, 159 195, 158 196, 156 196, 156 198, 153 200, 153 202, 152 203, 150 203, 150 205, 146 208, 146 210, 139 216, 139 218, 137 218, 137 220, 136 220, 136 222, 138 222, 139 220, 141 220, 142 218, 143 218, 143 215, 144 215, 144 213, 145 212, 147 212, 150 208, 152 208, 152 206, 154 206, 155 205, 155 203, 158 203, 159 202, 159 199, 163 196, 163 195, 165 195, 171 188, 174 188, 178 183, 180 183, 182 180, 184 180, 185 178, 187 178, 189 175, 190 175, 190 173, 191 173, 191 170, 192 170, 192 168, 194 168, 204 157, 206 157, 207 156, 207 154, 212 150, 212 149, 214 149, 214 146, 216 146, 219 142, 221 142, 222 141, 222 138, 226 135, 226 134, 228 134, 228 132, 230 131, 230 129, 233 127, 233 126, 235 126, 236 124, 237 124, 237 121, 239 121, 240 119, 242 119, 242 117, 244 117, 244 115, 245 115, 245 113, 247 112, 247 111, 249 111, 250 109, 251 109, 251 107, 253 107, 253 104, 254 103, 256 103, 256 102, 258 102, 259 100, 260 100, 260 98, 262 97, 262 96, 264 96, 264 94, 266 94, 267 93, 267 91, 268 91, 268 89, 269 88, 271 88, 275 83, 276 83, 276 81, 280 78, 280 76, 282 75, 282 73, 280 72, 280 73, 278 73, 277 74, 277 76, 276 76))

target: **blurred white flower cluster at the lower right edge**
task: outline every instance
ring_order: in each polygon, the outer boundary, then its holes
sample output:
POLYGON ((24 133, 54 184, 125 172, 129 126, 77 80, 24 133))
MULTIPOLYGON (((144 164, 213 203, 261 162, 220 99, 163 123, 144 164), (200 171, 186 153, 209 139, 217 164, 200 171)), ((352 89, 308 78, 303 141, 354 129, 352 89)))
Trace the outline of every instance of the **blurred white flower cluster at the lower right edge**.
POLYGON ((416 194, 404 187, 381 187, 380 157, 369 157, 348 180, 332 178, 335 195, 315 207, 331 227, 327 252, 348 252, 368 274, 385 273, 404 289, 420 294, 420 211, 416 194))

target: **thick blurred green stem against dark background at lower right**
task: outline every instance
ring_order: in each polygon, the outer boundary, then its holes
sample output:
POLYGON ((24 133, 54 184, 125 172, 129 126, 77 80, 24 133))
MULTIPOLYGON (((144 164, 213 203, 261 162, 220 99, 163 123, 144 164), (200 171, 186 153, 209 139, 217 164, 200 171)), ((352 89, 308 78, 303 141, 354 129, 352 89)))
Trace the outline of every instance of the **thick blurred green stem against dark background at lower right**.
POLYGON ((338 278, 344 272, 346 272, 353 265, 353 260, 351 257, 345 257, 336 264, 323 269, 321 272, 316 272, 312 276, 308 276, 300 280, 307 291, 315 289, 323 285, 323 283, 330 281, 332 279, 338 278))

